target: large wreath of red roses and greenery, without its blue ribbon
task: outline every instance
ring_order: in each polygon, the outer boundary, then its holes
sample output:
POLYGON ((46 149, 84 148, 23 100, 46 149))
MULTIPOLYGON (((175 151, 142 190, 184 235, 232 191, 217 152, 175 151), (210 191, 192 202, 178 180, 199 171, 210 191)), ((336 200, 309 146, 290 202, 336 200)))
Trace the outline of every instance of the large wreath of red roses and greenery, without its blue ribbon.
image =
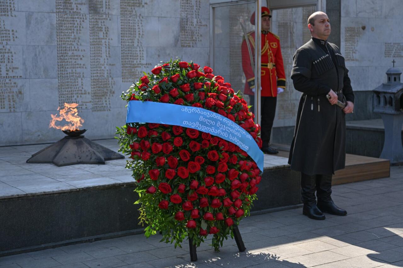
MULTIPOLYGON (((171 60, 144 73, 121 97, 214 111, 244 128, 261 148, 260 126, 241 93, 212 72, 171 60)), ((262 179, 256 163, 237 145, 192 128, 133 123, 117 129, 119 150, 132 159, 127 168, 137 180, 145 235, 161 231, 161 241, 176 247, 186 236, 199 246, 212 234, 218 251, 256 198, 262 179)))

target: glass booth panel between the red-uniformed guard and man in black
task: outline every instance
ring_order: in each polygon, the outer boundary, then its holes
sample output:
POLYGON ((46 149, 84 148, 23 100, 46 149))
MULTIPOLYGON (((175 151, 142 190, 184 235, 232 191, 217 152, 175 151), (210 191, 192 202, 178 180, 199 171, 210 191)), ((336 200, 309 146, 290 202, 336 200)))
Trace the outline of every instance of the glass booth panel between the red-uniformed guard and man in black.
MULTIPOLYGON (((280 37, 286 78, 286 89, 277 98, 273 127, 295 126, 301 93, 294 89, 293 81, 290 78, 293 55, 301 45, 311 38, 307 21, 310 14, 315 11, 316 5, 272 10, 272 33, 280 37)), ((276 137, 273 137, 273 142, 276 142, 276 137)))

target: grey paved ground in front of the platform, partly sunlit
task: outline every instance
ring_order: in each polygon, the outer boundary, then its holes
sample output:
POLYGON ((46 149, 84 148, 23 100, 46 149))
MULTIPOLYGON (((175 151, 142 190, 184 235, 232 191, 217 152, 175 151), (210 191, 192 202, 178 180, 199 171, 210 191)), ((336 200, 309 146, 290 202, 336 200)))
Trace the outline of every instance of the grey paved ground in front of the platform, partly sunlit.
POLYGON ((403 167, 391 167, 389 178, 334 186, 332 197, 347 216, 314 221, 297 208, 243 219, 241 253, 231 238, 214 252, 208 237, 191 262, 187 241, 174 249, 160 235, 138 234, 0 257, 0 267, 403 267, 403 167))

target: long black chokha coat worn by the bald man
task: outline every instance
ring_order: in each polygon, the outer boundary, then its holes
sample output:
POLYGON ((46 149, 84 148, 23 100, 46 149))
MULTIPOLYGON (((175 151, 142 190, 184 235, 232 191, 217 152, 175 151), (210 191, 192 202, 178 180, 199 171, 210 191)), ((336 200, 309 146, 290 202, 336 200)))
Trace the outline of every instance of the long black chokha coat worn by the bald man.
POLYGON ((345 167, 345 113, 326 99, 330 89, 339 100, 354 102, 354 94, 339 47, 312 38, 293 57, 291 78, 301 91, 291 144, 291 169, 307 175, 332 174, 345 167), (341 92, 342 91, 342 92, 341 92))

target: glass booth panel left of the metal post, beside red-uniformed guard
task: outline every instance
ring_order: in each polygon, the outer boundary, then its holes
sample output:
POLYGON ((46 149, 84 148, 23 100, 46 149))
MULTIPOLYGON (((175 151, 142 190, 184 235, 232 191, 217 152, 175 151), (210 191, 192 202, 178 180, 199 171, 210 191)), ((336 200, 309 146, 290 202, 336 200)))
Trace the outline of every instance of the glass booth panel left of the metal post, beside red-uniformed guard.
MULTIPOLYGON (((251 67, 251 60, 244 33, 249 33, 249 38, 254 40, 255 26, 250 23, 251 14, 255 11, 256 4, 235 4, 219 6, 214 8, 213 19, 213 66, 214 74, 221 75, 225 82, 231 83, 232 88, 237 92, 240 90, 246 93, 245 101, 250 103, 249 96, 253 95, 247 86, 247 78, 253 78, 254 72, 251 67), (244 27, 244 31, 242 29, 244 27), (250 33, 253 31, 253 33, 250 33), (245 75, 246 74, 246 75, 245 75), (245 88, 246 92, 245 92, 245 88)), ((250 42, 249 44, 253 44, 250 42)), ((250 46, 251 53, 255 48, 250 46)), ((253 66, 254 67, 254 66, 253 66)))

